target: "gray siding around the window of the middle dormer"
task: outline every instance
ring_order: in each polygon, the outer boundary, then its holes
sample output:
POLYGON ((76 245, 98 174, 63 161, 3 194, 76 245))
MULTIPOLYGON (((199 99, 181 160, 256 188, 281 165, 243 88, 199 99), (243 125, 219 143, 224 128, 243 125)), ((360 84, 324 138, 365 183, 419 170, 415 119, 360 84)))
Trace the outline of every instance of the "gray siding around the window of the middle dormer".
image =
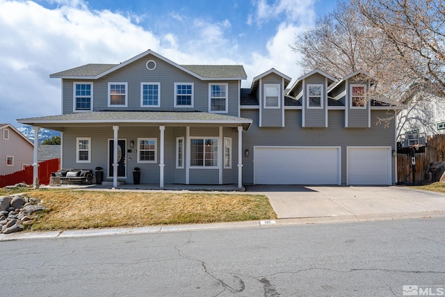
POLYGON ((315 73, 305 79, 305 83, 303 84, 302 108, 305 109, 305 127, 322 128, 326 126, 327 86, 326 78, 323 77, 323 75, 315 73), (307 109, 307 85, 309 84, 323 85, 323 109, 307 109))

